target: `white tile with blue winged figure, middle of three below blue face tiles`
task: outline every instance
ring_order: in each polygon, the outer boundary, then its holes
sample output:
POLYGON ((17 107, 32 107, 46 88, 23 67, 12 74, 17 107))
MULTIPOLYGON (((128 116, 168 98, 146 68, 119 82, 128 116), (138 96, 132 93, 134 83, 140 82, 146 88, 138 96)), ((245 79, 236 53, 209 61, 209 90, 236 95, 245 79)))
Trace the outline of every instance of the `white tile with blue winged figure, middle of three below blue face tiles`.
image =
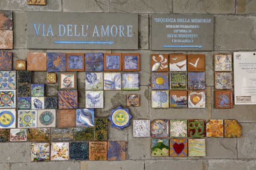
POLYGON ((121 90, 121 73, 104 72, 104 90, 121 90))

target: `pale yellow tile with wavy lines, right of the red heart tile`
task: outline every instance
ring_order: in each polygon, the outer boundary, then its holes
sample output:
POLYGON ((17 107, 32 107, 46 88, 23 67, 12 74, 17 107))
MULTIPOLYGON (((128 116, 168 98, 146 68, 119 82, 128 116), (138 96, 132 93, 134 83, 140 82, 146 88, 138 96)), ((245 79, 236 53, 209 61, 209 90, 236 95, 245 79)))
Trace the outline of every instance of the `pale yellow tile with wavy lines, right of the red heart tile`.
POLYGON ((190 157, 206 156, 205 139, 188 139, 190 157))

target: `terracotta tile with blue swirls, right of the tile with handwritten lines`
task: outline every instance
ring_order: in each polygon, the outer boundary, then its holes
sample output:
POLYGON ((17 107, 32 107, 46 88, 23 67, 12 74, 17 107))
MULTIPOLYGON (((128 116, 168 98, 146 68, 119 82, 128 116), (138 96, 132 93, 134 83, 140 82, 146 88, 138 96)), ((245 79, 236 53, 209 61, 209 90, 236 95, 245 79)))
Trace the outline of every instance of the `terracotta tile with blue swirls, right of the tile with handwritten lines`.
POLYGON ((108 160, 121 161, 126 159, 125 141, 108 141, 108 160))

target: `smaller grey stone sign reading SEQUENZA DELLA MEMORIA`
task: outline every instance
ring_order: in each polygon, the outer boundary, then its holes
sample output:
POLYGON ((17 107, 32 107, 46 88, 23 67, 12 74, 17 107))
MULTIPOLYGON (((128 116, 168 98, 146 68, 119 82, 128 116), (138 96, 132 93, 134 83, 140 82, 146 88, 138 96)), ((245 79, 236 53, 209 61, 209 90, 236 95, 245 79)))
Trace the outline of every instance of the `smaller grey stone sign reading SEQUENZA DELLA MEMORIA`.
POLYGON ((151 50, 212 51, 213 15, 152 14, 151 50))

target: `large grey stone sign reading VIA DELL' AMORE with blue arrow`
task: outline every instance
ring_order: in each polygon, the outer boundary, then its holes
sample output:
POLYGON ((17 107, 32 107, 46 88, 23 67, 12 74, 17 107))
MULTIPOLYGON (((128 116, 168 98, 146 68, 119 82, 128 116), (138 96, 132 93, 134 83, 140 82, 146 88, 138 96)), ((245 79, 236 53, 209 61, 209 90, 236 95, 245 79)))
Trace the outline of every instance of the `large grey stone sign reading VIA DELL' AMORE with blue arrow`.
POLYGON ((29 49, 138 49, 138 14, 27 12, 29 49))

